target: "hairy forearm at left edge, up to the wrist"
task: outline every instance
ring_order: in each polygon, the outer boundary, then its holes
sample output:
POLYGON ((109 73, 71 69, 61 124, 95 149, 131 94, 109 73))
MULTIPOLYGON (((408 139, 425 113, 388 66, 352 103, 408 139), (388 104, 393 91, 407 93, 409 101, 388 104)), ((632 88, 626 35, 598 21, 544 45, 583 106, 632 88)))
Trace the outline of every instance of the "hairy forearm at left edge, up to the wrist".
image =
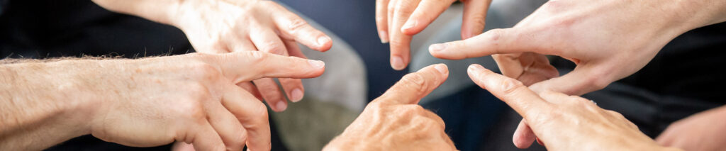
POLYGON ((0 65, 0 150, 42 150, 89 134, 81 87, 93 61, 0 65))

